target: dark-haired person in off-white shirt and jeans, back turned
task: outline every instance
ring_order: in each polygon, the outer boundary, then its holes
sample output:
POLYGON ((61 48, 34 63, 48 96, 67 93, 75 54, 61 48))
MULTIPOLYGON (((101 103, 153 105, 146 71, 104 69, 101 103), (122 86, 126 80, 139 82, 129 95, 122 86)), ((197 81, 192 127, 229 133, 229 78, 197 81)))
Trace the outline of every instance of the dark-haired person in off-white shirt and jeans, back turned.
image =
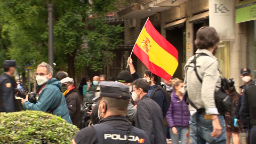
POLYGON ((221 87, 218 61, 214 57, 219 41, 220 38, 213 27, 201 27, 196 33, 196 54, 189 58, 184 68, 185 90, 190 100, 189 124, 193 143, 226 144, 227 141, 225 119, 223 115, 219 115, 214 100, 214 93, 221 87), (195 65, 194 58, 196 58, 195 65), (202 83, 198 77, 201 78, 202 83), (191 103, 194 103, 194 106, 191 106, 191 103))

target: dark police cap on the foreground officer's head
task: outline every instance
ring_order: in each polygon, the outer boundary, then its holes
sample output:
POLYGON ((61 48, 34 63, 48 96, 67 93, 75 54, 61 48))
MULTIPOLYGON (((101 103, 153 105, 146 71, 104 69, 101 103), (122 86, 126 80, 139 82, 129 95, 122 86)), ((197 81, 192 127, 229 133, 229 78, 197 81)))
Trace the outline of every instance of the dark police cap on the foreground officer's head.
POLYGON ((129 87, 117 82, 102 81, 100 83, 100 95, 92 100, 99 99, 100 97, 130 99, 129 87))

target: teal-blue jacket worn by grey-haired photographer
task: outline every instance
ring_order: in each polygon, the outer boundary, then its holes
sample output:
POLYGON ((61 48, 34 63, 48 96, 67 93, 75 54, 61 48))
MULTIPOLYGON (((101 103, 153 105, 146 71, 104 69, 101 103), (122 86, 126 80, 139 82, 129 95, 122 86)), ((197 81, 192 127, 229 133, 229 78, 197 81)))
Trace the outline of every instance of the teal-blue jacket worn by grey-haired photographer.
POLYGON ((35 104, 26 101, 23 103, 23 107, 28 110, 39 110, 46 112, 47 110, 53 109, 55 106, 57 106, 60 98, 62 97, 59 107, 53 111, 53 114, 66 119, 68 123, 72 124, 68 113, 66 99, 63 96, 60 88, 60 81, 58 81, 56 78, 49 79, 46 86, 42 89, 41 94, 39 94, 38 101, 35 104))

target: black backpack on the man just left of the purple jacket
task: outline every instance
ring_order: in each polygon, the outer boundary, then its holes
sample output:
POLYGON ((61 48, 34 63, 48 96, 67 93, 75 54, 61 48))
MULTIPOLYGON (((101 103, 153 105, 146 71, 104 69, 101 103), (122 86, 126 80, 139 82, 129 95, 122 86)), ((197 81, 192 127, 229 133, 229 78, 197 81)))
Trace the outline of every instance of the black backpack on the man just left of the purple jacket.
POLYGON ((155 87, 155 89, 153 90, 153 92, 151 93, 150 95, 150 99, 154 99, 154 95, 155 95, 155 92, 157 90, 161 89, 163 94, 164 94, 164 102, 163 102, 163 117, 166 116, 167 114, 167 111, 169 110, 169 107, 170 107, 170 103, 171 103, 171 95, 166 91, 166 89, 164 89, 164 87, 158 85, 155 87))

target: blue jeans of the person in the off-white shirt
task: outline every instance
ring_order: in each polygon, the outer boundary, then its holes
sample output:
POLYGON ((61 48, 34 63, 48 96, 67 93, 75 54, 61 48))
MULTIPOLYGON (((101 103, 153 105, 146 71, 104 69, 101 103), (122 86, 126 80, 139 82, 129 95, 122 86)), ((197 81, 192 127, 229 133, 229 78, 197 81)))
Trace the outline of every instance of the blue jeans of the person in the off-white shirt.
POLYGON ((223 143, 227 142, 226 123, 223 115, 218 116, 222 127, 221 135, 218 138, 211 137, 213 131, 212 120, 204 119, 204 114, 195 114, 191 116, 189 125, 191 127, 190 137, 194 143, 205 144, 206 142, 223 143), (198 118, 198 119, 196 119, 198 118))

